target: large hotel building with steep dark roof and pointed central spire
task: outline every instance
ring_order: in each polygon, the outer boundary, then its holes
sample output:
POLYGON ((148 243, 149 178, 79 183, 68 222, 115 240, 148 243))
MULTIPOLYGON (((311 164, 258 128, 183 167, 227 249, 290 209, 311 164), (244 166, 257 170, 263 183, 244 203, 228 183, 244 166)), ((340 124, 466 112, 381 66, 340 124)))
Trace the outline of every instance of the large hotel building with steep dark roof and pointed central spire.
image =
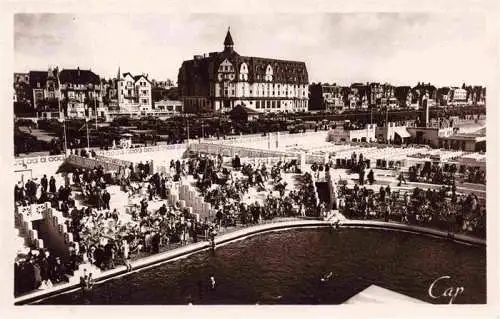
POLYGON ((178 85, 186 112, 226 113, 238 105, 258 112, 307 110, 304 62, 241 56, 233 47, 228 30, 224 51, 182 63, 178 85))

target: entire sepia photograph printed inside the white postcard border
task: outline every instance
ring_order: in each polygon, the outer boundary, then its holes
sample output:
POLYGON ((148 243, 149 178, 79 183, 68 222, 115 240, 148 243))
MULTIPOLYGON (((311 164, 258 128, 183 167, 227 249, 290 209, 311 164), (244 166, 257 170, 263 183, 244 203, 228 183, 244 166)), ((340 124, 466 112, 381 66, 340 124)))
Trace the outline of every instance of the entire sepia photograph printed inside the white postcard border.
POLYGON ((243 12, 14 14, 14 305, 486 305, 485 17, 243 12))

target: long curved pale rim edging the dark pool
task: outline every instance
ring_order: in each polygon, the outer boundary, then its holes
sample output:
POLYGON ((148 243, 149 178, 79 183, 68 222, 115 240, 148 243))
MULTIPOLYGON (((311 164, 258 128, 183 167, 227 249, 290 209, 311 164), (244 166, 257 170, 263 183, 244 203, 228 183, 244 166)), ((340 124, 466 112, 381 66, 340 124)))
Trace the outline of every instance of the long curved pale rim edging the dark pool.
MULTIPOLYGON (((441 230, 430 229, 426 227, 399 224, 392 222, 382 222, 382 221, 369 221, 369 220, 346 220, 340 225, 341 228, 370 228, 370 229, 384 229, 391 231, 404 231, 412 232, 427 236, 435 236, 443 239, 453 240, 459 243, 472 244, 485 246, 486 240, 479 239, 462 234, 450 234, 441 230)), ((293 220, 293 221, 282 221, 275 223, 268 223, 262 225, 256 225, 248 228, 243 228, 227 234, 217 236, 215 238, 215 243, 217 246, 229 244, 236 240, 242 240, 250 236, 263 234, 269 231, 280 231, 293 228, 309 228, 309 227, 331 227, 330 222, 322 220, 293 220)), ((177 249, 169 250, 163 253, 151 255, 144 257, 135 261, 132 261, 132 272, 140 271, 142 269, 150 268, 153 266, 158 266, 160 264, 172 261, 178 258, 185 258, 191 254, 201 252, 210 248, 210 244, 206 241, 190 244, 177 249)), ((95 276, 96 283, 102 283, 109 279, 126 275, 127 272, 125 266, 119 266, 115 269, 103 271, 95 276)), ((49 290, 35 291, 33 293, 18 297, 14 300, 15 305, 24 304, 34 304, 42 299, 47 299, 62 293, 74 292, 80 289, 78 283, 67 283, 49 290)))

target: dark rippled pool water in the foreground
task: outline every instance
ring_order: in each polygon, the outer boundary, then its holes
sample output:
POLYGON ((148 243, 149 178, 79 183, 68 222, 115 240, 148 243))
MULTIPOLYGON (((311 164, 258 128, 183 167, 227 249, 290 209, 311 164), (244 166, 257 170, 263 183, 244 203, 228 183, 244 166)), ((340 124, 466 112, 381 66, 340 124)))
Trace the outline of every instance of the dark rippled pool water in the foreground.
POLYGON ((429 303, 486 303, 486 248, 406 232, 294 229, 265 233, 119 277, 43 304, 341 304, 375 284, 429 303), (324 274, 330 280, 322 282, 324 274), (211 287, 210 277, 215 279, 211 287))

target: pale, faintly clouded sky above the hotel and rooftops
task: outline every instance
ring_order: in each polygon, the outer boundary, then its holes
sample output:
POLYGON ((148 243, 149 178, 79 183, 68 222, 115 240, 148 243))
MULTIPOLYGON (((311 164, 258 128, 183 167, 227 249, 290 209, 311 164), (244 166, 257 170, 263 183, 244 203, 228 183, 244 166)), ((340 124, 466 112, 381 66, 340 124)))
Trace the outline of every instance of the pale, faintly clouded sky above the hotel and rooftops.
POLYGON ((182 61, 222 51, 306 62, 309 82, 482 85, 492 39, 473 13, 16 14, 14 70, 91 69, 177 81, 182 61))

